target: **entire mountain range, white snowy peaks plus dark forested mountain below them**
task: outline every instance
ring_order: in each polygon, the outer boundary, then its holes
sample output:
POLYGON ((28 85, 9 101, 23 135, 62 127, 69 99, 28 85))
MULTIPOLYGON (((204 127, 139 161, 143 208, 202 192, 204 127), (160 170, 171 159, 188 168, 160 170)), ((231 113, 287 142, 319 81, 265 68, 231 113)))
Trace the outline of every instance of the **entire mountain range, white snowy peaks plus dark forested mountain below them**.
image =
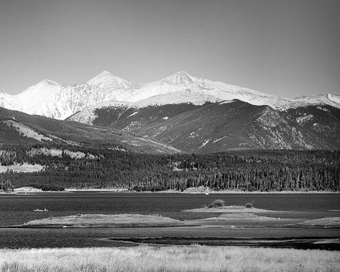
POLYGON ((0 92, 0 106, 142 137, 171 152, 340 148, 340 96, 280 98, 183 71, 147 84, 106 71, 86 83, 43 80, 21 94, 0 92))

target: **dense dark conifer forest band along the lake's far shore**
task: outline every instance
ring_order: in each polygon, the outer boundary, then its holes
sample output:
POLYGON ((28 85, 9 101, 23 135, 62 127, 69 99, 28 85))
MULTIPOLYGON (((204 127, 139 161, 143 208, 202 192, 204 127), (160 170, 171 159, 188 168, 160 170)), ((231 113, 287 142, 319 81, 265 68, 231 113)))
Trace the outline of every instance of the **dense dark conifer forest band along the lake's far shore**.
POLYGON ((340 152, 259 150, 220 154, 137 154, 100 148, 55 144, 2 146, 1 164, 41 164, 38 173, 1 174, 14 188, 57 186, 62 188, 127 188, 164 191, 208 186, 215 190, 339 191, 340 152), (40 147, 92 154, 96 159, 29 156, 40 147))

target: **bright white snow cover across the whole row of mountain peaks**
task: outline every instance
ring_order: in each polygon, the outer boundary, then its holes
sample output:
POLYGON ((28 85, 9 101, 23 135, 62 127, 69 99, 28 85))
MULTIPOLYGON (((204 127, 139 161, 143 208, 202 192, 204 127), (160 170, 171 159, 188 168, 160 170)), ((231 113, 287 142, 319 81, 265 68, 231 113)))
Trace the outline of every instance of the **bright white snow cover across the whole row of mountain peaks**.
POLYGON ((82 120, 86 120, 86 123, 93 120, 94 108, 108 106, 114 101, 126 101, 131 103, 130 106, 140 108, 176 103, 202 105, 207 101, 219 102, 233 99, 257 106, 268 105, 278 111, 311 104, 328 104, 340 108, 340 96, 336 95, 280 98, 220 81, 198 78, 185 71, 146 84, 126 81, 104 71, 87 83, 62 85, 45 79, 30 86, 21 94, 11 96, 0 92, 0 106, 4 108, 57 119, 86 111, 81 117, 82 120))

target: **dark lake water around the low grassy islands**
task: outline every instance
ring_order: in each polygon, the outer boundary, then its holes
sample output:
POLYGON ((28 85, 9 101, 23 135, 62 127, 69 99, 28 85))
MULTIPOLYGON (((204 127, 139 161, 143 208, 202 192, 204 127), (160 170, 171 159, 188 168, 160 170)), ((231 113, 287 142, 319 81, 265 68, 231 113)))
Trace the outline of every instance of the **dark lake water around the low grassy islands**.
POLYGON ((140 213, 163 215, 179 220, 193 220, 216 216, 208 213, 181 212, 200 208, 215 199, 225 200, 226 205, 244 205, 254 200, 254 207, 280 210, 281 218, 291 220, 317 219, 340 216, 338 194, 203 194, 181 193, 36 193, 27 195, 0 195, 0 248, 64 247, 64 246, 126 246, 120 238, 174 237, 188 243, 195 239, 280 238, 280 237, 340 237, 339 229, 305 228, 223 228, 223 227, 149 227, 101 229, 16 229, 43 217, 77 215, 86 213, 140 213), (49 210, 34 212, 34 209, 49 210), (331 211, 333 210, 333 211, 331 211), (113 238, 108 240, 106 238, 113 238))

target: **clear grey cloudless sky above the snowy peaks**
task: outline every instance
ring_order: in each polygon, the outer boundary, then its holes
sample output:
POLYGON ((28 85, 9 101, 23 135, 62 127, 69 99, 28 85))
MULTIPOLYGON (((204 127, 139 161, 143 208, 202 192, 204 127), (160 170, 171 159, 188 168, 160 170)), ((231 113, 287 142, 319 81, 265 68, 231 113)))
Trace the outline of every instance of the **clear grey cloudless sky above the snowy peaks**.
POLYGON ((266 94, 340 94, 339 0, 0 0, 0 91, 186 70, 266 94))

